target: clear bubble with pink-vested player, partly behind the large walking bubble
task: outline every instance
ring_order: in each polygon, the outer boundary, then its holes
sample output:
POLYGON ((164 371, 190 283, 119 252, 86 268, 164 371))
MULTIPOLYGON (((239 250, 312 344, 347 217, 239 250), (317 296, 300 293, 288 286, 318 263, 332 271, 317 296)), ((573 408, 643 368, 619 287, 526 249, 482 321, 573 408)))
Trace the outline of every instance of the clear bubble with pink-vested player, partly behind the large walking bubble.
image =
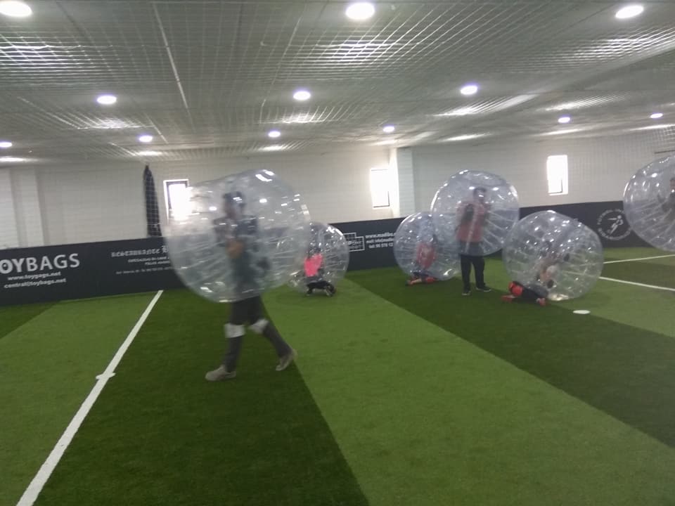
POLYGON ((307 269, 310 271, 306 271, 303 266, 288 282, 299 292, 305 292, 307 283, 311 281, 323 280, 331 285, 337 285, 347 273, 349 244, 345 235, 332 225, 311 223, 309 245, 305 247, 304 255, 307 269))

